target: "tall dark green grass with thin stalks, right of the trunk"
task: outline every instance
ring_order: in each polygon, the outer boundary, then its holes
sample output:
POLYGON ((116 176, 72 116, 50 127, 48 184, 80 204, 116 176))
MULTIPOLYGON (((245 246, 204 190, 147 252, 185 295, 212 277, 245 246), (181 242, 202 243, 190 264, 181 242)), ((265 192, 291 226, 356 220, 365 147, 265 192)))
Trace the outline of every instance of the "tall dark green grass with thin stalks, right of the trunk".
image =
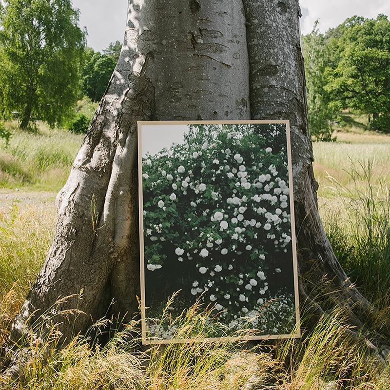
POLYGON ((325 229, 352 281, 384 310, 390 306, 390 182, 375 179, 371 162, 352 165, 348 175, 348 187, 329 177, 339 208, 324 213, 325 229))

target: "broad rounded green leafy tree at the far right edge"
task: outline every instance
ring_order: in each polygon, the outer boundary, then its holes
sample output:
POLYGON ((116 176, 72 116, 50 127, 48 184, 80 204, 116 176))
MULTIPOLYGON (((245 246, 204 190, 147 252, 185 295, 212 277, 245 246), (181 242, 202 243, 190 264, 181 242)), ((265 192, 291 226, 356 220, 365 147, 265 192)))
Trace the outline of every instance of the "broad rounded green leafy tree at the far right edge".
POLYGON ((343 108, 372 116, 374 129, 390 131, 390 21, 355 16, 339 32, 329 42, 326 89, 343 108))

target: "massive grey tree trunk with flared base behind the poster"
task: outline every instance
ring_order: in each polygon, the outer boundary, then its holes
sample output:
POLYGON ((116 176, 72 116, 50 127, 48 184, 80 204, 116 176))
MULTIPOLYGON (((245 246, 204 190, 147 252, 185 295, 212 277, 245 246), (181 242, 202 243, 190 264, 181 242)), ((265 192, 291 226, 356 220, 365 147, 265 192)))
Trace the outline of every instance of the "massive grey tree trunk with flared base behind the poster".
POLYGON ((137 120, 147 119, 289 119, 301 304, 345 306, 359 328, 370 319, 317 210, 299 13, 297 0, 130 0, 117 67, 58 195, 53 244, 14 340, 26 325, 59 322, 69 341, 108 308, 137 312, 137 120))

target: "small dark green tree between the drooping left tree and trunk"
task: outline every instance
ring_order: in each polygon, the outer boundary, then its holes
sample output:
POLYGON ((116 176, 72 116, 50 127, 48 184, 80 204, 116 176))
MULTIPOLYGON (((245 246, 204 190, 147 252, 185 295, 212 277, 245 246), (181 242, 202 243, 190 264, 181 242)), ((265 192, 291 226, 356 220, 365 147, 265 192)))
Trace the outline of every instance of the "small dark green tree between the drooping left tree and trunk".
POLYGON ((82 69, 83 93, 93 101, 103 96, 117 61, 106 54, 87 48, 82 69))

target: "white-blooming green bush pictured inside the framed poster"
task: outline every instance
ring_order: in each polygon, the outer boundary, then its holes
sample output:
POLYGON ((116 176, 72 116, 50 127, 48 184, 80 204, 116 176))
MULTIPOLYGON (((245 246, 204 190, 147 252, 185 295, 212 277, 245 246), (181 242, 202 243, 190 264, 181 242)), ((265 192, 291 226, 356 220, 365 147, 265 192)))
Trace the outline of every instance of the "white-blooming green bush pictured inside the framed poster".
POLYGON ((278 263, 292 240, 287 146, 218 129, 145 159, 145 258, 158 273, 187 267, 192 287, 177 290, 235 320, 267 300, 273 279, 291 281, 278 263))

